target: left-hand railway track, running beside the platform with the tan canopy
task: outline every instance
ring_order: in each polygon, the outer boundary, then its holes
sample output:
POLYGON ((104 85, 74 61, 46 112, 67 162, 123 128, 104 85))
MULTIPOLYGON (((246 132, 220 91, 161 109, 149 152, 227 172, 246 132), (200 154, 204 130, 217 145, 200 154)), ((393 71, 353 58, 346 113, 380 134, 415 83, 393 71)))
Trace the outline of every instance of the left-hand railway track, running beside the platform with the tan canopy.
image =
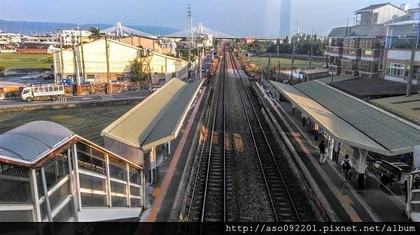
POLYGON ((206 141, 200 149, 187 221, 225 221, 225 56, 222 60, 206 122, 206 141))

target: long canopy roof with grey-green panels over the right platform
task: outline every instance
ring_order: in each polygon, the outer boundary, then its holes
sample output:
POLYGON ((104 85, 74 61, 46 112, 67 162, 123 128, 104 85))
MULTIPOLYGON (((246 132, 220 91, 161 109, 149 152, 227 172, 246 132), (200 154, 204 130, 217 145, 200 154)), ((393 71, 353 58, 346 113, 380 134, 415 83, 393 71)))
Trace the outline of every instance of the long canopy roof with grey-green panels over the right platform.
POLYGON ((420 128, 322 82, 272 86, 343 144, 396 156, 420 145, 420 128))

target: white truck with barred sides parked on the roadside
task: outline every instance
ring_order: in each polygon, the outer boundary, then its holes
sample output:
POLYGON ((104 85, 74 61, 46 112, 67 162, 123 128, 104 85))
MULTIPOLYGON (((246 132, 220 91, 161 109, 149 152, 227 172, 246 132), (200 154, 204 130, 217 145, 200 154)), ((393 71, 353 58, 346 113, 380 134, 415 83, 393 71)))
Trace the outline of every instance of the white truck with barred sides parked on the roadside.
POLYGON ((22 100, 31 102, 32 100, 57 100, 64 96, 64 86, 58 84, 40 84, 26 86, 22 90, 22 100))

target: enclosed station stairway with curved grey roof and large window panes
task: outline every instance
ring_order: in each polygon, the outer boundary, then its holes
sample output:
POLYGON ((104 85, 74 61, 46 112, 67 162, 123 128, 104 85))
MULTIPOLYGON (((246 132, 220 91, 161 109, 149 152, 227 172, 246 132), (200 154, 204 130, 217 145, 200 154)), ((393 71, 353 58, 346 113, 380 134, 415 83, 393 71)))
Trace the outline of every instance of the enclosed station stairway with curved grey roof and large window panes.
POLYGON ((34 121, 0 135, 0 220, 139 220, 143 168, 71 130, 34 121))

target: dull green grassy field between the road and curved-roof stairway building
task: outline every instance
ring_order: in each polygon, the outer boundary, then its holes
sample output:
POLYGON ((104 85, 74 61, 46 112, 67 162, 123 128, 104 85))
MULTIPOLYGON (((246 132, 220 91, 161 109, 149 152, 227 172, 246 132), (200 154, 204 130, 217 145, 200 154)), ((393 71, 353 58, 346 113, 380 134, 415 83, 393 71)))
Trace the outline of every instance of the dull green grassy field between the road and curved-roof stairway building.
POLYGON ((95 144, 104 146, 101 131, 134 107, 134 105, 0 112, 0 133, 30 121, 53 121, 69 128, 76 134, 89 139, 95 144))

